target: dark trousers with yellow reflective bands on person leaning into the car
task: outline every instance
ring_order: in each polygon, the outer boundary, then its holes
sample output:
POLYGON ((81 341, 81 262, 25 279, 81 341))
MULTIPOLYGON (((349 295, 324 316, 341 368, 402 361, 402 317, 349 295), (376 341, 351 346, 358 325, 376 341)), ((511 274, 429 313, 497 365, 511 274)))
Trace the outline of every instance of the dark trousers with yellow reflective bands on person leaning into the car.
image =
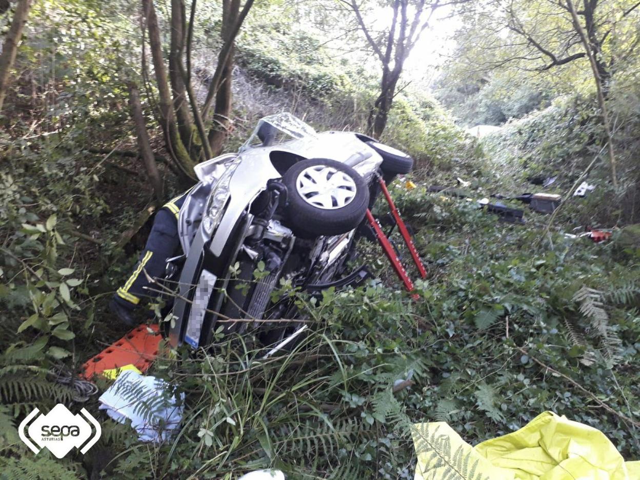
POLYGON ((147 275, 151 278, 163 278, 166 259, 179 255, 178 214, 185 198, 186 192, 164 204, 156 213, 154 226, 151 228, 145 250, 142 251, 136 268, 114 295, 115 301, 123 307, 136 308, 142 298, 158 296, 154 294, 155 292, 145 289, 151 285, 147 275))

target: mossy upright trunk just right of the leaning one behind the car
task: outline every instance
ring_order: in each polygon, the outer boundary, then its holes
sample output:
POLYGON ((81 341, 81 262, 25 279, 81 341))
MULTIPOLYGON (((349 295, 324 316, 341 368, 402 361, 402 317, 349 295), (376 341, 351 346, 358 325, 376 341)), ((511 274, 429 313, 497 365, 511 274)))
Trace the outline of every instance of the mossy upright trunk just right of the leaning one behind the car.
POLYGON ((193 124, 189 115, 186 88, 180 71, 184 51, 184 26, 186 23, 182 0, 171 2, 171 45, 169 51, 169 79, 173 92, 173 108, 178 119, 178 131, 185 147, 193 150, 193 124))

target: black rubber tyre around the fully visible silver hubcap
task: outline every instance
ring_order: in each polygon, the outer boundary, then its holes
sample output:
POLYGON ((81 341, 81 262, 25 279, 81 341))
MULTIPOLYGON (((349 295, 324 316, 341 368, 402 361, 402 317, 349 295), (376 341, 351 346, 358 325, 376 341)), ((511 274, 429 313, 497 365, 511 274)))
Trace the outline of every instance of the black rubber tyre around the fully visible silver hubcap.
POLYGON ((287 187, 287 227, 301 238, 340 235, 356 228, 367 212, 369 188, 364 179, 348 165, 335 160, 310 158, 294 164, 282 177, 287 187), (355 195, 344 207, 323 209, 314 206, 298 192, 298 176, 312 166, 328 166, 345 173, 355 184, 355 195))

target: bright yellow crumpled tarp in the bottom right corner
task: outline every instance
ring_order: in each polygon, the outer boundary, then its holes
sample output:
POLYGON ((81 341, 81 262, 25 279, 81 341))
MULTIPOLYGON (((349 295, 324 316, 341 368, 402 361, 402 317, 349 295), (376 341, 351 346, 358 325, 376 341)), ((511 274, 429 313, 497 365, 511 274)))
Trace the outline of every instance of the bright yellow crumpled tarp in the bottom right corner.
POLYGON ((413 426, 415 480, 640 480, 601 431, 544 412, 509 435, 472 447, 444 422, 413 426))

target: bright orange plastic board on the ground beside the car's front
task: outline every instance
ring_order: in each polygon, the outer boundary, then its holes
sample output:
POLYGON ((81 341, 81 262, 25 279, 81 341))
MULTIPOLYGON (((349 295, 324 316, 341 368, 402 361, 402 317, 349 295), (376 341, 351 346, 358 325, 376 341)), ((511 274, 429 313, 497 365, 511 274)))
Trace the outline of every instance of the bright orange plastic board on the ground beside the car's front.
POLYGON ((156 359, 161 340, 157 324, 140 325, 85 362, 82 376, 91 380, 105 370, 125 365, 134 365, 141 372, 146 372, 156 359))

